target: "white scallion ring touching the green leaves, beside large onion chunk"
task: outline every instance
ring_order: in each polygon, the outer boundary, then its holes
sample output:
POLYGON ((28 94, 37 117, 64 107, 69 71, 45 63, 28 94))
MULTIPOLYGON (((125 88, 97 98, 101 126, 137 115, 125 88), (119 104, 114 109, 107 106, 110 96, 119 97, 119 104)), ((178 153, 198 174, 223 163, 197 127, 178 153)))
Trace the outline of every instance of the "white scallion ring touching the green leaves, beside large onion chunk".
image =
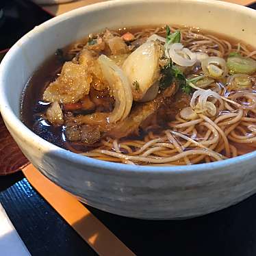
POLYGON ((170 44, 168 55, 171 57, 172 62, 179 66, 193 66, 196 63, 196 54, 183 47, 181 43, 170 44))

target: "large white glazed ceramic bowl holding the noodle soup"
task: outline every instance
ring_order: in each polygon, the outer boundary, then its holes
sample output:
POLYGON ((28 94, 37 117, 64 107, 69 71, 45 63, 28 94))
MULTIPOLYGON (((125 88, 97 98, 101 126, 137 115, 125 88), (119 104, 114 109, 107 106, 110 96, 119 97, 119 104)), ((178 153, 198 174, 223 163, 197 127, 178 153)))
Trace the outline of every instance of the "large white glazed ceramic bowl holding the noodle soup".
POLYGON ((256 191, 256 152, 193 166, 130 166, 60 149, 21 122, 23 88, 57 48, 105 27, 165 23, 256 42, 256 11, 240 5, 209 0, 106 1, 36 27, 14 44, 0 66, 1 114, 18 146, 51 181, 103 211, 133 218, 191 218, 238 203, 256 191))

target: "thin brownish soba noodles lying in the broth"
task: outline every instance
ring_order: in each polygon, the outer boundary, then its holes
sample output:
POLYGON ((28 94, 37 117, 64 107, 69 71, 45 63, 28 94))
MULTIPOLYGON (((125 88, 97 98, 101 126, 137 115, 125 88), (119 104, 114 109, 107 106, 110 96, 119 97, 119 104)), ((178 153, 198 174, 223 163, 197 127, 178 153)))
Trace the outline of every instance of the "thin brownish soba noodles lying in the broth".
MULTIPOLYGON (((172 27, 172 32, 176 29, 172 27)), ((218 57, 227 57, 231 51, 240 51, 240 54, 256 60, 256 51, 248 51, 242 43, 232 46, 227 40, 207 34, 202 35, 193 29, 180 30, 181 42, 191 51, 212 53, 218 57)), ((136 39, 148 38, 152 34, 164 36, 166 30, 160 27, 144 29, 134 34, 134 36, 136 39)), ((220 95, 225 97, 225 91, 222 91, 220 95)), ((252 97, 256 97, 256 94, 252 95, 252 97)), ((234 98, 234 96, 227 97, 227 99, 234 98)), ((245 103, 247 102, 245 101, 245 103)), ((227 102, 225 103, 225 109, 221 111, 223 114, 220 114, 215 120, 211 120, 207 116, 200 114, 199 117, 201 118, 188 122, 177 116, 178 120, 169 123, 170 129, 162 131, 162 135, 151 133, 151 138, 144 138, 144 144, 131 144, 129 140, 122 140, 122 142, 118 143, 118 140, 107 138, 107 140, 103 141, 103 146, 88 153, 82 153, 82 155, 105 161, 113 161, 114 157, 115 162, 124 162, 124 159, 129 159, 129 162, 136 164, 150 163, 164 165, 208 162, 206 158, 209 159, 209 162, 212 162, 214 160, 226 159, 231 156, 231 153, 235 157, 238 155, 238 149, 229 141, 238 143, 256 141, 256 129, 251 133, 246 133, 246 130, 248 131, 248 127, 253 125, 252 122, 256 121, 256 118, 244 117, 244 122, 241 122, 242 117, 248 113, 245 113, 244 110, 238 107, 234 108, 234 106, 230 106, 227 102), (230 110, 233 113, 229 113, 230 110), (188 130, 188 127, 190 130, 188 130), (205 127, 206 129, 202 130, 200 129, 201 127, 205 127), (241 129, 246 135, 237 135, 237 133, 240 134, 241 129), (193 136, 193 134, 196 134, 196 136, 193 136), (192 139, 193 137, 194 139, 192 139), (104 142, 108 143, 104 144, 104 142), (220 154, 223 150, 223 143, 225 151, 220 154), (110 156, 112 157, 111 159, 110 156)))

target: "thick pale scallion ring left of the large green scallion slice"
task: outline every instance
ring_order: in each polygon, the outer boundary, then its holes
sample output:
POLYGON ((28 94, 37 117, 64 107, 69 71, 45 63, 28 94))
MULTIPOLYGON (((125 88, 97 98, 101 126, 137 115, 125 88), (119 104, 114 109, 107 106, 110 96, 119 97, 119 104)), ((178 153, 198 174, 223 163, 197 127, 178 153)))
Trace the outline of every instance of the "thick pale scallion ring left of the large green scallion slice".
POLYGON ((222 57, 208 57, 202 60, 203 73, 207 77, 212 77, 214 79, 220 79, 227 75, 228 68, 225 60, 222 57))

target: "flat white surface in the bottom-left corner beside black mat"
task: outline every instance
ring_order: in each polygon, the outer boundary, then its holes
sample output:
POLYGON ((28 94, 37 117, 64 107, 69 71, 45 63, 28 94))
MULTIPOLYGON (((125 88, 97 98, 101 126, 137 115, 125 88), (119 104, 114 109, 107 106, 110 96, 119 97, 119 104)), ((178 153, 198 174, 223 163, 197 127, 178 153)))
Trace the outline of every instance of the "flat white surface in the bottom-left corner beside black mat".
POLYGON ((0 255, 30 256, 0 203, 0 255))

